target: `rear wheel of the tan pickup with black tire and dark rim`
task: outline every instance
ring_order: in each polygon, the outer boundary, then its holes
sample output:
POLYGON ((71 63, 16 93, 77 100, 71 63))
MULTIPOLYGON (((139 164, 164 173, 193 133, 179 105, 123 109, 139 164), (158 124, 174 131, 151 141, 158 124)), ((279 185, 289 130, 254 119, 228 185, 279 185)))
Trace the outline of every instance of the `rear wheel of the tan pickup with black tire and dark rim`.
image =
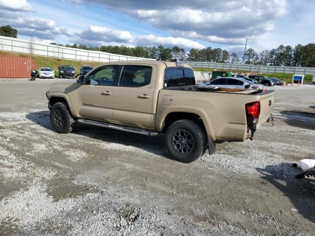
POLYGON ((201 157, 207 150, 207 135, 197 122, 182 119, 168 127, 165 144, 174 158, 189 163, 201 157))

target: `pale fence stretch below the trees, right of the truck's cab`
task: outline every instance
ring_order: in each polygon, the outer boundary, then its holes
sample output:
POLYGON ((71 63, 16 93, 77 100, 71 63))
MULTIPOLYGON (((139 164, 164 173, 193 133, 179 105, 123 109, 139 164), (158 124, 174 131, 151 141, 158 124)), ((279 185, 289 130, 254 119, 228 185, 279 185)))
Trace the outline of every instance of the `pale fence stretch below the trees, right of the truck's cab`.
POLYGON ((252 71, 258 73, 290 73, 313 75, 315 68, 311 67, 289 67, 289 66, 266 66, 266 65, 250 65, 250 64, 230 64, 230 63, 216 63, 216 62, 198 62, 186 61, 192 67, 201 67, 209 69, 219 69, 226 71, 252 71))

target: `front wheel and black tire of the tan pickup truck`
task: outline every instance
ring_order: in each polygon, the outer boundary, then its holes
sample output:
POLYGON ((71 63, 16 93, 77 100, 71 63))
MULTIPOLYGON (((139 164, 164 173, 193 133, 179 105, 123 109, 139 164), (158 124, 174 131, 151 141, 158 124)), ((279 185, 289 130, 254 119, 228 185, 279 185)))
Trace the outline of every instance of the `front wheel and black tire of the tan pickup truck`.
POLYGON ((72 117, 66 103, 57 102, 50 110, 50 122, 53 128, 62 134, 70 133, 75 128, 76 121, 72 117))

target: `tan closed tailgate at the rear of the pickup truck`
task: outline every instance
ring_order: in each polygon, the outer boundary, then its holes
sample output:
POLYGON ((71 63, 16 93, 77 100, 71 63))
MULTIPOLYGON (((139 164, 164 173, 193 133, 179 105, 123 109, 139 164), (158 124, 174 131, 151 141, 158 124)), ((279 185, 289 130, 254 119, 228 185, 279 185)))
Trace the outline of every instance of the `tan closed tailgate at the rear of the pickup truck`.
POLYGON ((275 103, 275 96, 274 96, 275 91, 270 90, 270 91, 263 92, 259 95, 261 96, 260 115, 259 115, 257 126, 262 125, 269 119, 272 108, 274 107, 274 103, 275 103))

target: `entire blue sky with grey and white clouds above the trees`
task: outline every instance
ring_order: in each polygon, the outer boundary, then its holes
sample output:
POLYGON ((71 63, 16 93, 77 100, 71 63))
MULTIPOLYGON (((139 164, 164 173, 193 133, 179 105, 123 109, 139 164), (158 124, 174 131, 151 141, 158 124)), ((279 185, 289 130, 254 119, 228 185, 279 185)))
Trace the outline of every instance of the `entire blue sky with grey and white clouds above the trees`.
POLYGON ((0 0, 19 38, 229 52, 314 43, 314 0, 0 0))

